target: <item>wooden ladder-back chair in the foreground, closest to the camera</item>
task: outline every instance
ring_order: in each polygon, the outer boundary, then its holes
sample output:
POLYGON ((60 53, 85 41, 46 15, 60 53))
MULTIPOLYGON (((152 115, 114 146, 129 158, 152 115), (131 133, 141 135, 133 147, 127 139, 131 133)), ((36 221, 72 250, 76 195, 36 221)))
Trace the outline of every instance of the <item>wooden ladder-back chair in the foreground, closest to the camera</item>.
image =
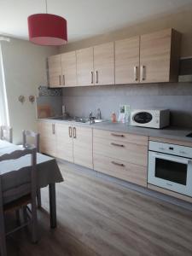
MULTIPOLYGON (((18 160, 20 157, 25 156, 26 154, 31 154, 31 166, 24 167, 29 168, 29 172, 31 172, 30 180, 27 186, 26 195, 16 199, 15 201, 11 201, 9 203, 3 203, 6 196, 10 195, 18 195, 20 191, 23 191, 24 186, 26 189, 26 184, 22 184, 19 187, 16 186, 13 189, 9 189, 3 192, 3 183, 2 183, 2 176, 0 175, 0 248, 1 248, 1 256, 7 255, 7 247, 6 247, 6 236, 25 227, 28 224, 32 224, 32 242, 37 242, 37 206, 36 206, 36 191, 37 191, 37 182, 36 182, 36 161, 37 161, 37 154, 36 149, 25 149, 25 150, 16 150, 11 154, 3 154, 0 156, 0 162, 3 164, 3 161, 6 160, 18 160), (31 183, 31 184, 30 184, 31 183), (27 207, 28 204, 32 205, 31 210, 27 207), (6 212, 15 212, 19 211, 20 209, 25 210, 25 212, 30 212, 31 218, 29 218, 29 214, 27 213, 27 218, 23 224, 20 224, 15 230, 11 230, 8 233, 5 231, 5 224, 4 224, 4 214, 6 212)), ((6 166, 6 165, 5 165, 6 166)), ((20 168, 20 170, 23 168, 20 168)), ((15 172, 20 172, 17 170, 15 172)), ((28 169, 27 169, 28 170, 28 169)))

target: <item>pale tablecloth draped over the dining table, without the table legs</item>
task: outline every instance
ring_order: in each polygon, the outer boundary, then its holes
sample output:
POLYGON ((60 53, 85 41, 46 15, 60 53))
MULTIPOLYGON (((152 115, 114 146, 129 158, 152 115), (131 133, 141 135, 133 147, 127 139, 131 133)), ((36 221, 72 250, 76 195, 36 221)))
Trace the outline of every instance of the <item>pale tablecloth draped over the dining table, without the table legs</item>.
MULTIPOLYGON (((20 149, 12 143, 0 140, 0 155, 9 154, 20 149)), ((27 166, 31 165, 31 156, 26 155, 18 160, 6 160, 0 162, 0 175, 2 175, 3 191, 8 191, 20 184, 28 183, 30 180, 30 172, 27 166), (20 170, 20 168, 22 168, 20 170), (18 172, 20 170, 20 172, 18 172)), ((63 178, 56 163, 56 160, 44 154, 37 154, 37 185, 38 188, 44 188, 49 183, 61 183, 63 178)), ((17 195, 18 196, 18 195, 17 195)), ((5 202, 14 200, 15 198, 5 198, 5 202)))

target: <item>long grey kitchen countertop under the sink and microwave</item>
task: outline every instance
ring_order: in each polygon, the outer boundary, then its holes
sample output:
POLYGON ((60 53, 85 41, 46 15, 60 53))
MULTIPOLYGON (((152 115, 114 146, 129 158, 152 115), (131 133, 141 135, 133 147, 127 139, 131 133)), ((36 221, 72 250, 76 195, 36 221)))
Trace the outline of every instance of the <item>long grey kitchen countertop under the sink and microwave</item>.
POLYGON ((180 141, 182 140, 185 142, 192 143, 192 137, 186 137, 186 135, 192 132, 192 129, 190 130, 190 129, 175 127, 175 126, 169 126, 164 129, 152 129, 152 128, 131 126, 131 125, 126 125, 121 123, 112 123, 111 121, 103 121, 101 123, 95 123, 91 125, 87 123, 51 119, 51 118, 38 119, 38 121, 47 121, 52 123, 67 123, 71 125, 84 126, 84 127, 90 127, 90 128, 107 130, 107 131, 127 132, 127 133, 132 133, 137 135, 148 136, 148 137, 162 137, 162 138, 168 138, 168 139, 180 140, 180 141))

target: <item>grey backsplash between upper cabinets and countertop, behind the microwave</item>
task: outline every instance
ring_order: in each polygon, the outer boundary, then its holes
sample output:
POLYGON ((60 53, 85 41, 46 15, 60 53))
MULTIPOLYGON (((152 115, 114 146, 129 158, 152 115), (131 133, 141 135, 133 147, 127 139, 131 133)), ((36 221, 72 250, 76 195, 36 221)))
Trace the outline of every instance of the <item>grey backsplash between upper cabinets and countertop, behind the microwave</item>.
POLYGON ((100 108, 102 118, 109 119, 120 104, 131 108, 169 108, 171 124, 192 128, 192 83, 129 84, 73 87, 62 90, 67 112, 87 116, 100 108))

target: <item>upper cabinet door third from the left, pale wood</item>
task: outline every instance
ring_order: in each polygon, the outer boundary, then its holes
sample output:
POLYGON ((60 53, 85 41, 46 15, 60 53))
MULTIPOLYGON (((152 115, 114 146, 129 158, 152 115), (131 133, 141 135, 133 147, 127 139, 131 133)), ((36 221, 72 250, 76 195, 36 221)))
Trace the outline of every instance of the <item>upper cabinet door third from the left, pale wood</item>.
POLYGON ((93 47, 79 49, 76 51, 77 56, 77 79, 79 86, 94 84, 93 73, 93 47))

